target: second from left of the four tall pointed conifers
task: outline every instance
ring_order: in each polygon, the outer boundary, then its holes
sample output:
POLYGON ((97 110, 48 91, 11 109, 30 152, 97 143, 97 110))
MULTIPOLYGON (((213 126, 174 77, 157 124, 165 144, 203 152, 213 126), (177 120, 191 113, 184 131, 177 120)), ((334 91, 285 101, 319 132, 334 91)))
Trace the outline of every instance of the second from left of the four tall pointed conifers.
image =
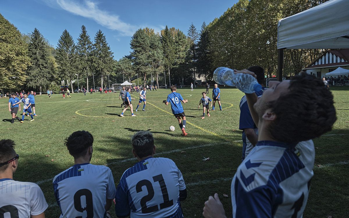
POLYGON ((76 73, 76 52, 73 37, 67 30, 64 30, 57 44, 57 63, 62 80, 69 79, 72 92, 73 78, 76 73))

